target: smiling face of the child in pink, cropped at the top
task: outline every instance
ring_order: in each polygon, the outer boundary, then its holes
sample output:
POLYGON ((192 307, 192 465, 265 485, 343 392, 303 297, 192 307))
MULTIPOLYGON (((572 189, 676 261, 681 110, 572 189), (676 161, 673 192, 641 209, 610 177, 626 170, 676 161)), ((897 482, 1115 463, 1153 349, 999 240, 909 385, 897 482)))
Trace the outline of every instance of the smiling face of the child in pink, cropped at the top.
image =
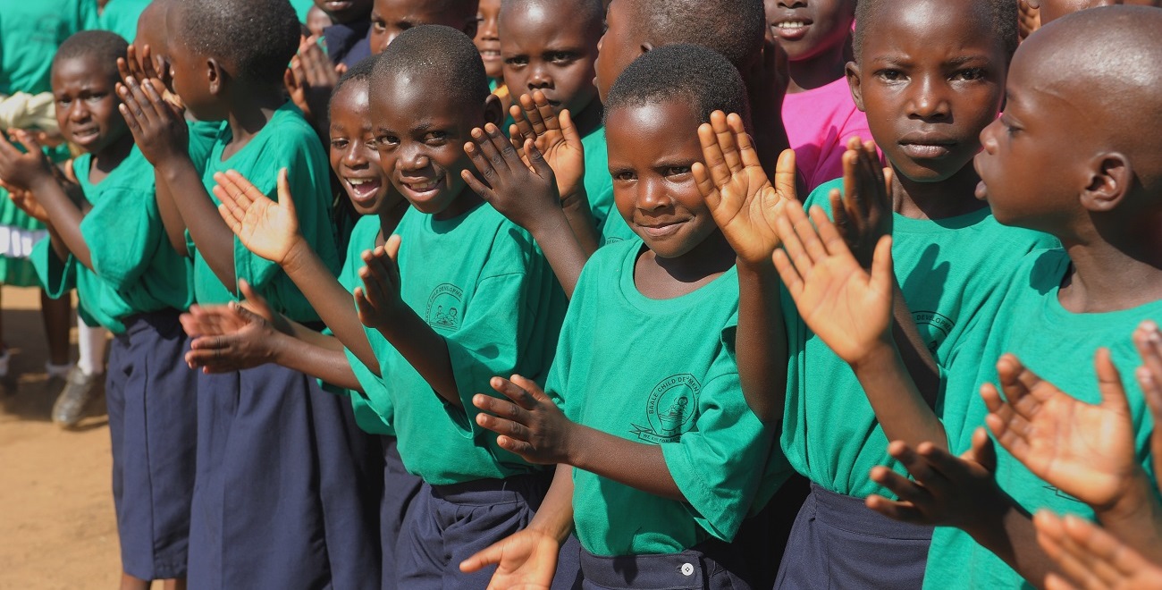
POLYGON ((855 21, 854 0, 765 0, 767 23, 791 62, 841 46, 855 21))

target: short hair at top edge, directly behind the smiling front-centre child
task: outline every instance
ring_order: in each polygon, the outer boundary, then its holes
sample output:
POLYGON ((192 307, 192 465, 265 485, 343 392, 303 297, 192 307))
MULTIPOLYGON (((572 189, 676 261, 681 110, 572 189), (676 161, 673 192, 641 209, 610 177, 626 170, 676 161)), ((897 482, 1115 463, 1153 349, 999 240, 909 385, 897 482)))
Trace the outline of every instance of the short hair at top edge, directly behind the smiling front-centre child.
POLYGON ((739 71, 762 53, 767 33, 762 0, 633 0, 632 6, 638 26, 657 45, 702 45, 725 56, 739 71))

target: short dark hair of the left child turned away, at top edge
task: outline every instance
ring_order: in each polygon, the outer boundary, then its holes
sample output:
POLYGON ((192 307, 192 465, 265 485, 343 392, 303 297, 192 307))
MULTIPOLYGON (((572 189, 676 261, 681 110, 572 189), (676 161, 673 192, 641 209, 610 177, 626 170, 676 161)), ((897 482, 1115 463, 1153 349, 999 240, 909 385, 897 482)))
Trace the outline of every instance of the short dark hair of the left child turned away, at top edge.
POLYGON ((185 0, 181 42, 222 59, 235 75, 280 84, 299 51, 299 17, 286 0, 185 0))

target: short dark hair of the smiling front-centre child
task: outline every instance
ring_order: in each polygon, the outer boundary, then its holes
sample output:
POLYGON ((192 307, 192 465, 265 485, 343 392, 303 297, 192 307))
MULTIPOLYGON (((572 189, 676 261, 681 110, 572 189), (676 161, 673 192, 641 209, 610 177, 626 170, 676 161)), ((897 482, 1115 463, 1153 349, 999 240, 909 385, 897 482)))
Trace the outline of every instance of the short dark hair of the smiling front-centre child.
POLYGON ((691 105, 702 122, 709 122, 715 110, 751 120, 741 74, 720 53, 700 45, 666 45, 633 60, 610 88, 605 116, 619 108, 668 101, 691 105))

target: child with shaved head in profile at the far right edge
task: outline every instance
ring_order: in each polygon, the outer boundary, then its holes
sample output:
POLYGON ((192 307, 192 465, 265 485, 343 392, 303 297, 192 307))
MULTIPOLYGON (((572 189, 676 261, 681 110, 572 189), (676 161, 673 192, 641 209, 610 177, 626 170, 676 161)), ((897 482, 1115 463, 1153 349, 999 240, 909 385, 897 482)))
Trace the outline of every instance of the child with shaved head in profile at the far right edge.
MULTIPOLYGON (((1003 117, 982 134, 980 193, 998 221, 1047 231, 1064 249, 1032 253, 1013 273, 990 346, 959 373, 952 367, 949 395, 953 388, 971 391, 994 382, 997 370, 989 359, 1000 351, 1018 354, 1024 366, 1055 383, 1097 382, 1090 364, 1095 343, 1112 343, 1109 359, 1121 374, 1136 365, 1125 334, 1162 314, 1162 250, 1155 229, 1162 218, 1162 144, 1140 132, 1162 108, 1156 92, 1162 80, 1150 65, 1162 56, 1160 27, 1162 10, 1153 8, 1084 10, 1045 26, 1017 52, 1003 117), (1088 41, 1095 37, 1103 43, 1088 41), (1110 71, 1119 75, 1110 78, 1110 71), (1095 87, 1103 92, 1093 93, 1095 87), (1135 108, 1127 111, 1124 105, 1135 108), (1027 174, 1050 167, 1057 172, 1027 174)), ((1082 406, 1097 398, 1089 391, 1061 403, 1082 406)), ((1127 402, 1133 454, 1149 473, 1153 420, 1133 383, 1127 402)), ((1047 485, 1011 453, 998 449, 990 456, 989 439, 974 432, 987 413, 983 400, 974 397, 966 413, 962 427, 948 425, 949 449, 968 449, 963 459, 931 445, 920 445, 918 453, 909 445, 895 449, 909 460, 918 483, 932 490, 928 497, 911 496, 916 484, 874 474, 914 508, 882 498, 869 498, 869 505, 951 525, 933 538, 926 575, 931 587, 1013 588, 1023 585, 1021 577, 1045 580, 1045 555, 1028 542, 1034 534, 1028 511, 1096 518, 1118 537, 1143 521, 1159 521, 1141 494, 1127 492, 1134 479, 1114 477, 1106 485, 1083 479, 1069 489, 1047 485), (925 466, 933 461, 951 487, 931 477, 925 466), (949 501, 960 502, 955 511, 948 510, 949 501)))

